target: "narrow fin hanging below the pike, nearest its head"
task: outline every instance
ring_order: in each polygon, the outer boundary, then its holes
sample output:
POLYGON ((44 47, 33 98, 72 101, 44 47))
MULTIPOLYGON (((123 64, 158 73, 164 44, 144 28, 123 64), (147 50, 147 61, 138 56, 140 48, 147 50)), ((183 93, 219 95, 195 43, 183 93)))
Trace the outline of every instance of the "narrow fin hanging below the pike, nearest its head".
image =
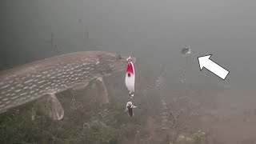
POLYGON ((98 95, 101 95, 101 101, 103 104, 106 104, 109 102, 109 93, 106 89, 106 85, 105 85, 105 82, 103 81, 103 78, 102 77, 99 77, 96 79, 97 82, 99 83, 99 86, 101 88, 101 90, 98 90, 98 91, 102 91, 102 94, 98 94, 98 95))

